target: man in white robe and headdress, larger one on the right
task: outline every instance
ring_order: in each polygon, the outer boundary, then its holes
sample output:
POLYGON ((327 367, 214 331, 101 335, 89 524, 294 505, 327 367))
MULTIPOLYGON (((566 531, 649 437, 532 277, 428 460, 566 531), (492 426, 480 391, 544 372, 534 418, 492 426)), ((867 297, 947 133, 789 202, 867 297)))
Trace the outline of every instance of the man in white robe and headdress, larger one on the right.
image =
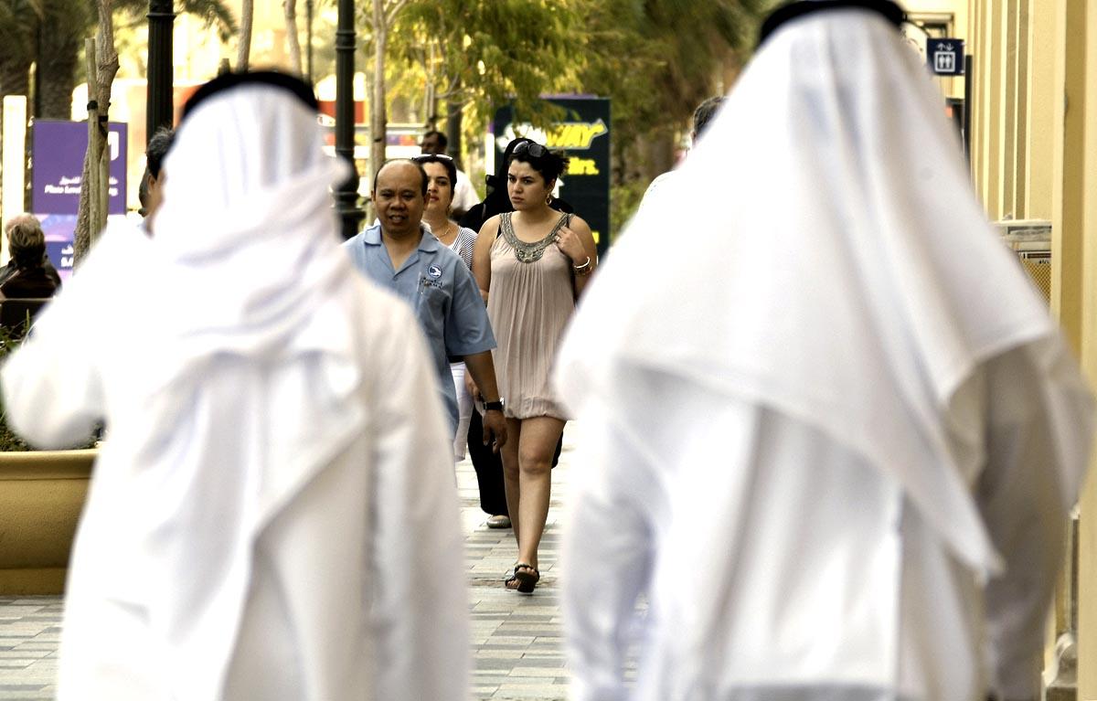
POLYGON ((556 375, 576 701, 1037 698, 1093 403, 901 19, 767 21, 587 291, 556 375))

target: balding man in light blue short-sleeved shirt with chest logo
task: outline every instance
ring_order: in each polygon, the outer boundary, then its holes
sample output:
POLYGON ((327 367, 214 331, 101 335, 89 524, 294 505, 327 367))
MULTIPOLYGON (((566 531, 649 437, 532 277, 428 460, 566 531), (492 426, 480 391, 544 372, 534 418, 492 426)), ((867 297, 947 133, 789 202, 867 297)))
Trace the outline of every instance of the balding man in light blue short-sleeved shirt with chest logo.
POLYGON ((502 398, 495 382, 491 349, 495 336, 476 280, 456 253, 422 227, 427 173, 410 160, 392 160, 373 179, 373 205, 378 224, 343 244, 361 270, 411 305, 427 335, 439 389, 457 427, 457 397, 450 374, 450 355, 464 358, 485 398, 484 442, 507 442, 502 398))

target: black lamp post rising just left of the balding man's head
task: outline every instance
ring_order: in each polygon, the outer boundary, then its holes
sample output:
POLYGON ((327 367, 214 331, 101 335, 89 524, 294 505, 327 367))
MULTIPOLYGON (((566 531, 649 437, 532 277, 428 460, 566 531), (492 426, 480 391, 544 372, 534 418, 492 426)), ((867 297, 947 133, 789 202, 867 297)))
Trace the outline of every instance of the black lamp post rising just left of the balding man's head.
POLYGON ((343 238, 358 234, 365 212, 359 206, 358 169, 354 167, 354 0, 339 0, 336 29, 336 156, 346 158, 352 173, 336 191, 336 212, 343 238))

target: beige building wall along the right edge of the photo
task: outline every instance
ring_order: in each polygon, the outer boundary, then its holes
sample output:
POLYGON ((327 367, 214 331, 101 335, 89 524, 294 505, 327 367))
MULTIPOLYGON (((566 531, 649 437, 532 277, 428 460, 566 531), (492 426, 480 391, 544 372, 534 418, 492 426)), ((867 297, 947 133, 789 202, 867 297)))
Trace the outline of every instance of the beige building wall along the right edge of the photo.
MULTIPOLYGON (((962 1, 962 0, 961 0, 962 1)), ((917 3, 913 3, 917 4, 917 3)), ((1097 378, 1097 0, 966 0, 972 177, 993 219, 1050 218, 1052 310, 1097 378), (1088 80, 1087 80, 1088 77, 1088 80)), ((1097 479, 1081 499, 1078 699, 1097 700, 1097 479)), ((1065 590, 1065 589, 1064 589, 1065 590)), ((1064 601, 1060 611, 1066 610, 1064 601)), ((1062 618, 1060 621, 1062 627, 1062 618)))

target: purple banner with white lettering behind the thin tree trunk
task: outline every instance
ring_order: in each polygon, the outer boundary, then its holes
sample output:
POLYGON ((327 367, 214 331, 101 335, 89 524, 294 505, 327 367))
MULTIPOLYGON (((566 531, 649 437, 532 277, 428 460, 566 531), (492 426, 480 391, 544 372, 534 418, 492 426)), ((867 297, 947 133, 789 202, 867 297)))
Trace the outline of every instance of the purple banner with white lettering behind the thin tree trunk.
MULTIPOLYGON (((108 214, 126 213, 126 125, 108 124, 111 184, 108 214)), ((76 214, 80 204, 80 177, 88 150, 88 124, 35 120, 33 140, 34 193, 32 208, 43 214, 76 214)), ((69 231, 71 238, 71 231, 69 231)))

